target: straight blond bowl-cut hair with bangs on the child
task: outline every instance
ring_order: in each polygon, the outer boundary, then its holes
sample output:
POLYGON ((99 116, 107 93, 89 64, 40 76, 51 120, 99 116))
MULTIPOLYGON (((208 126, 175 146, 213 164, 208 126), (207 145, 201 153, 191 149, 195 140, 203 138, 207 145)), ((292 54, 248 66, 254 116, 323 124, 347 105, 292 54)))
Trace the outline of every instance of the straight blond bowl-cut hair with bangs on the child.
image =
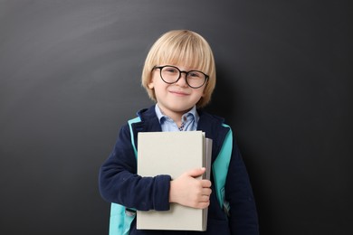
POLYGON ((204 107, 215 89, 215 58, 210 45, 198 33, 188 30, 174 30, 159 37, 148 52, 142 71, 142 86, 148 97, 157 102, 154 89, 148 84, 152 79, 153 68, 157 65, 179 64, 209 76, 205 83, 204 96, 197 102, 197 108, 204 107))

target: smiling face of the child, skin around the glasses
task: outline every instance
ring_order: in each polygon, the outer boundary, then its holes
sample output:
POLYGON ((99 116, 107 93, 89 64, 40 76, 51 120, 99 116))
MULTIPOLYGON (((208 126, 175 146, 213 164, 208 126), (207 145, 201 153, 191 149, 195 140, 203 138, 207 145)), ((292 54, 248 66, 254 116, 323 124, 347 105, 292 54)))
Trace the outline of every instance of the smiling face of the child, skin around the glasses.
MULTIPOLYGON (((181 65, 174 66, 180 71, 194 70, 194 68, 181 65)), ((175 118, 181 118, 204 96, 205 84, 198 89, 190 88, 186 83, 185 73, 181 74, 181 78, 176 83, 167 84, 160 78, 160 71, 157 69, 152 71, 152 79, 148 83, 148 88, 155 90, 157 105, 163 113, 176 120, 175 118)))

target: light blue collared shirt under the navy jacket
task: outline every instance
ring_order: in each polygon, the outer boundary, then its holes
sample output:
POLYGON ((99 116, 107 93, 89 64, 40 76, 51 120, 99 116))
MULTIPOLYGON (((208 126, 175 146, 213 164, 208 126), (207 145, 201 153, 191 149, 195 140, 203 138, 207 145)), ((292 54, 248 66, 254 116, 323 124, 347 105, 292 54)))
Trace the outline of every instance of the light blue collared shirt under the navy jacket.
MULTIPOLYGON (((176 122, 172 118, 167 117, 167 115, 164 115, 157 104, 155 110, 162 131, 180 131, 176 122)), ((190 111, 182 116, 182 122, 184 122, 183 131, 196 130, 198 119, 199 116, 196 111, 196 106, 194 106, 194 108, 191 108, 190 111)))

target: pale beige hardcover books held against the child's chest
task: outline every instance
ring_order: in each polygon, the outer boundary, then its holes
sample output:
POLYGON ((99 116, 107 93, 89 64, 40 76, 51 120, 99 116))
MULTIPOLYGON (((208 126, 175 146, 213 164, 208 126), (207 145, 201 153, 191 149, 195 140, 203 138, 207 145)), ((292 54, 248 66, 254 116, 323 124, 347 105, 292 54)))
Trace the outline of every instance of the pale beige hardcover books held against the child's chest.
MULTIPOLYGON (((201 131, 138 133, 138 174, 175 179, 197 167, 210 176, 212 140, 201 131)), ((138 230, 206 230, 207 209, 171 203, 169 211, 138 211, 138 230)))

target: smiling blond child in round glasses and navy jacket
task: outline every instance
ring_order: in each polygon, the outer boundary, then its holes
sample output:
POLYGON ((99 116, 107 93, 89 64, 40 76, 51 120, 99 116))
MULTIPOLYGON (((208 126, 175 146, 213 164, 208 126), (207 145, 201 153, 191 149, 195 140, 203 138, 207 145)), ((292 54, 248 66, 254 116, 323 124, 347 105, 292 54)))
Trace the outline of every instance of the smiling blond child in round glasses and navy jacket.
MULTIPOLYGON (((205 39, 187 30, 163 34, 148 52, 142 85, 156 105, 138 111, 141 122, 132 126, 135 145, 138 132, 202 130, 213 140, 215 161, 229 128, 222 126, 223 118, 200 109, 215 89, 215 59, 205 39)), ((225 183, 228 215, 212 193, 212 179, 196 179, 204 172, 205 168, 190 169, 173 180, 170 175, 139 176, 127 124, 121 127, 113 152, 100 168, 100 193, 108 202, 139 211, 167 211, 171 202, 208 207, 206 231, 137 230, 135 219, 130 234, 258 234, 253 191, 236 144, 225 183)))

